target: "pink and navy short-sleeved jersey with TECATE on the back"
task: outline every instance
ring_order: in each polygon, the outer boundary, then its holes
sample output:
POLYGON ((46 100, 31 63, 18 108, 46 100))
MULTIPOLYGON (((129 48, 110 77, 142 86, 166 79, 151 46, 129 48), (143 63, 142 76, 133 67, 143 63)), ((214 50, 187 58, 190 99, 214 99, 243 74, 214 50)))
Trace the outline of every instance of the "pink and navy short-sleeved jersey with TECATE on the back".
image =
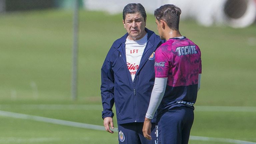
POLYGON ((199 47, 186 37, 172 38, 155 53, 155 77, 168 77, 157 114, 175 106, 194 108, 198 74, 202 73, 199 47))

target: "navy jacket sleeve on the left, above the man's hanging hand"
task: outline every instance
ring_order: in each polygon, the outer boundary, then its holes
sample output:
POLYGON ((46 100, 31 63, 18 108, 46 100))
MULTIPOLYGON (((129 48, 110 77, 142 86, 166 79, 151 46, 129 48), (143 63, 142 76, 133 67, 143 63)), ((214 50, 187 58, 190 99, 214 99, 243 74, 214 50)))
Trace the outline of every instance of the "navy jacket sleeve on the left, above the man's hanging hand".
POLYGON ((101 100, 102 100, 102 118, 113 117, 112 107, 114 105, 114 74, 109 61, 110 52, 101 68, 101 100))

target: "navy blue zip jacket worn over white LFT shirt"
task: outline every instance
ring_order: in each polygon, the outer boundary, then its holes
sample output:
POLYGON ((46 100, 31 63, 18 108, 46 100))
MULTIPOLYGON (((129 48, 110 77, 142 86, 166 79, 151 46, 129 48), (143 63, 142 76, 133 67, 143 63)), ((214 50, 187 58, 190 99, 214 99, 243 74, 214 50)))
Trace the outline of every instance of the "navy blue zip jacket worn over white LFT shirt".
MULTIPOLYGON (((164 42, 153 31, 145 30, 148 42, 133 81, 125 55, 128 33, 117 39, 107 54, 101 68, 103 119, 114 116, 112 107, 115 103, 117 124, 144 122, 155 81, 155 60, 149 60, 149 57, 164 42)), ((152 122, 155 122, 155 118, 152 122)))

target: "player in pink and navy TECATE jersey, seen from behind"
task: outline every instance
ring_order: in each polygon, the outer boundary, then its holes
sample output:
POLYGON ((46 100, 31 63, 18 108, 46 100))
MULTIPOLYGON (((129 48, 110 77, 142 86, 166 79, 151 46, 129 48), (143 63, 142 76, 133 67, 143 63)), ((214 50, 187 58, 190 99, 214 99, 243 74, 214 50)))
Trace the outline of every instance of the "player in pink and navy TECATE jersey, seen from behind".
POLYGON ((154 14, 160 38, 166 43, 156 51, 156 78, 143 134, 151 139, 150 121, 157 110, 158 144, 188 144, 193 105, 200 88, 201 52, 180 34, 180 14, 180 8, 170 4, 156 9, 154 14))

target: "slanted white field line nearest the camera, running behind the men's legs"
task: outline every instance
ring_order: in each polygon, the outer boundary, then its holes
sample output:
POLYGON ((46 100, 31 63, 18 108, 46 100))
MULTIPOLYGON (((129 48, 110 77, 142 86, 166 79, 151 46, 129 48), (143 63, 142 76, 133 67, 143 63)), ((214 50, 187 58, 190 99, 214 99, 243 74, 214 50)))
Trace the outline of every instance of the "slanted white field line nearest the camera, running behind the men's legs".
MULTIPOLYGON (((0 110, 0 116, 27 119, 27 120, 35 120, 35 121, 47 122, 47 123, 53 123, 53 124, 59 124, 59 125, 66 125, 66 126, 73 126, 73 127, 79 127, 79 128, 87 128, 87 129, 105 131, 104 126, 72 122, 72 121, 53 119, 53 118, 47 118, 47 117, 41 117, 41 116, 34 116, 34 115, 28 115, 28 114, 21 114, 21 113, 15 113, 15 112, 8 112, 8 111, 2 111, 2 110, 0 110)), ((117 132, 117 129, 113 129, 113 131, 117 132)), ((233 143, 233 144, 256 144, 255 142, 241 141, 241 140, 235 140, 235 139, 213 138, 213 137, 202 137, 202 136, 190 136, 190 140, 226 142, 226 143, 233 143)))

